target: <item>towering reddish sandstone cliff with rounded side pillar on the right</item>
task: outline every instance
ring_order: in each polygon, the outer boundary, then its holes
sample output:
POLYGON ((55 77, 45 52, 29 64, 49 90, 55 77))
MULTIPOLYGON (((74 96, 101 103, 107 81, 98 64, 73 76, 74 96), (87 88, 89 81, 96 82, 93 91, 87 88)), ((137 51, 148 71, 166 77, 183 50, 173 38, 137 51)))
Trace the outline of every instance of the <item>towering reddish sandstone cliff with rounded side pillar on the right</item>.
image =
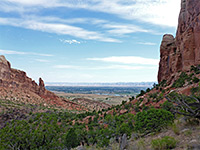
POLYGON ((180 71, 200 64, 200 1, 182 0, 176 37, 164 35, 158 82, 173 82, 180 71))

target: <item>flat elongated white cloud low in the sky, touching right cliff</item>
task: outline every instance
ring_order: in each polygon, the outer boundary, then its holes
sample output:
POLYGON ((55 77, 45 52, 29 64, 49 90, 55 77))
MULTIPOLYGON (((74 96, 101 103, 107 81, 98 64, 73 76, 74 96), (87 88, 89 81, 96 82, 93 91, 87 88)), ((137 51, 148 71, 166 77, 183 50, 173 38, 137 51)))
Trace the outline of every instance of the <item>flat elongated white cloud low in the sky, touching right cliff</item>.
POLYGON ((143 58, 137 56, 111 56, 104 58, 87 58, 87 60, 140 65, 158 65, 159 63, 158 59, 143 58))

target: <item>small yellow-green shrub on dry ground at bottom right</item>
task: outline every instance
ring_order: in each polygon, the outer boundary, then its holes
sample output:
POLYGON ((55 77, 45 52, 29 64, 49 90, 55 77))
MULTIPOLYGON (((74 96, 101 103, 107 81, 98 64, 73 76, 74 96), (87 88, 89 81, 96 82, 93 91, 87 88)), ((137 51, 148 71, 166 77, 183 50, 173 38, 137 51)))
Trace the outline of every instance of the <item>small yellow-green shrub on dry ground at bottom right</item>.
POLYGON ((176 147, 177 141, 170 136, 152 140, 151 146, 154 150, 166 150, 173 149, 176 147))

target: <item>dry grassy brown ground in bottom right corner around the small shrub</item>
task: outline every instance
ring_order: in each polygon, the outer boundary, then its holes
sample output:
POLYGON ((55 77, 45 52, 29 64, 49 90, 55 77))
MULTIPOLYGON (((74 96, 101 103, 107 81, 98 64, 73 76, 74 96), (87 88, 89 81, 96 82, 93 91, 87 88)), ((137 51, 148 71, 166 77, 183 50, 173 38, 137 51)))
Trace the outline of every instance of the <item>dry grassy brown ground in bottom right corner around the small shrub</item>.
POLYGON ((200 145, 200 125, 191 125, 188 122, 181 122, 176 120, 174 125, 168 129, 163 130, 155 135, 148 135, 144 138, 129 141, 129 146, 127 150, 133 150, 133 147, 137 145, 138 150, 152 150, 151 141, 153 139, 158 139, 164 136, 174 137, 178 143, 175 150, 188 149, 192 144, 200 145))

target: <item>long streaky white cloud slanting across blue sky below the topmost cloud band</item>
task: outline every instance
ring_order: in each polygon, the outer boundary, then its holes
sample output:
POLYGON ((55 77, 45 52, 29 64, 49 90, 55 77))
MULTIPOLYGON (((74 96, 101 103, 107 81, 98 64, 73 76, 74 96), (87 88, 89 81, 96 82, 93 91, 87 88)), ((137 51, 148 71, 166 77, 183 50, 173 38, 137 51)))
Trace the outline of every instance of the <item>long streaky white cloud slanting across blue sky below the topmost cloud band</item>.
MULTIPOLYGON (((12 25, 17 27, 23 27, 32 30, 39 30, 49 33, 57 33, 70 35, 73 37, 78 37, 86 40, 97 40, 104 42, 118 42, 121 41, 115 38, 109 38, 108 36, 125 35, 135 32, 151 32, 151 30, 143 29, 142 27, 132 25, 132 24, 120 24, 116 22, 109 22, 107 20, 95 19, 95 18, 73 18, 73 19, 61 19, 58 17, 41 17, 41 16, 23 16, 21 19, 16 18, 0 18, 0 24, 2 25, 12 25), (94 26, 100 27, 103 33, 97 31, 88 31, 83 28, 75 27, 68 24, 92 24, 94 26), (108 35, 108 36, 107 36, 108 35)), ((64 41, 61 39, 62 42, 64 41)), ((80 44, 75 40, 65 40, 66 43, 80 44)))

